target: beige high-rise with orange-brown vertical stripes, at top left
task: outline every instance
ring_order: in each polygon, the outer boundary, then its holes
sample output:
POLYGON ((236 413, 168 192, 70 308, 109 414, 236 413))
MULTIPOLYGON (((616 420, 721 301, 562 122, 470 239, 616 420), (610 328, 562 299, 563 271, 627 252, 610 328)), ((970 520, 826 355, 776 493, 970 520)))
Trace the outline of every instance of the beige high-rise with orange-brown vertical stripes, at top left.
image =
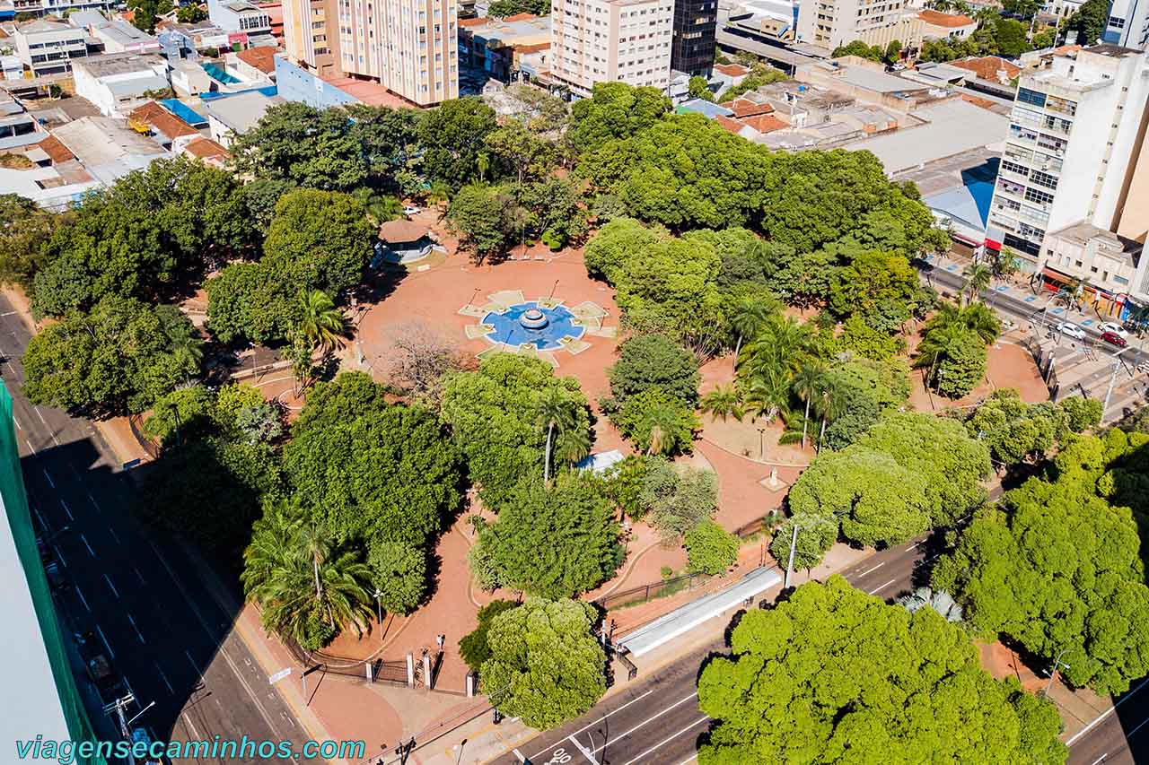
POLYGON ((418 106, 458 98, 456 26, 454 0, 284 0, 290 59, 418 106))

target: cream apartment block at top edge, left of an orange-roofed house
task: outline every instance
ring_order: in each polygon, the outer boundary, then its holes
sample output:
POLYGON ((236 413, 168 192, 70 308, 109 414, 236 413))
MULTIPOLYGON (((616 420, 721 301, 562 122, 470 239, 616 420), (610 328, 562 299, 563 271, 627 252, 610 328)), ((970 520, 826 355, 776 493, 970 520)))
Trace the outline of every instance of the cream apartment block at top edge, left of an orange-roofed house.
POLYGON ((797 10, 797 40, 827 51, 854 40, 920 45, 923 28, 905 0, 803 0, 797 10))

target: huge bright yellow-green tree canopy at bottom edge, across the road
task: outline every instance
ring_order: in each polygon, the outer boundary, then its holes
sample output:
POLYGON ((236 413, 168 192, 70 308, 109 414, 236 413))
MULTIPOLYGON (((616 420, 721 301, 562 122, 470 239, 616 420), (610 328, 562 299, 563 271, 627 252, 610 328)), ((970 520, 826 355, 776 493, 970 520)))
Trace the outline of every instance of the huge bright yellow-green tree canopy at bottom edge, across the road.
POLYGON ((1064 763, 1069 754, 1057 708, 1012 678, 994 680, 961 627, 932 609, 886 605, 841 577, 748 611, 731 650, 699 678, 699 706, 716 720, 703 765, 1064 763))

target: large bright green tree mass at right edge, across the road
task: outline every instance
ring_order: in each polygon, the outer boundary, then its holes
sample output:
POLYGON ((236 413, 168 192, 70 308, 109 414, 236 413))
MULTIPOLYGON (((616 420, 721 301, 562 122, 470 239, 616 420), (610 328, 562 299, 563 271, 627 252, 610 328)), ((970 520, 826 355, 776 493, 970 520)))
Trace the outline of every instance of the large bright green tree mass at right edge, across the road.
POLYGON ((1118 694, 1149 671, 1149 436, 1075 436, 1048 476, 980 510, 933 585, 957 595, 978 631, 1004 635, 1065 678, 1118 694))

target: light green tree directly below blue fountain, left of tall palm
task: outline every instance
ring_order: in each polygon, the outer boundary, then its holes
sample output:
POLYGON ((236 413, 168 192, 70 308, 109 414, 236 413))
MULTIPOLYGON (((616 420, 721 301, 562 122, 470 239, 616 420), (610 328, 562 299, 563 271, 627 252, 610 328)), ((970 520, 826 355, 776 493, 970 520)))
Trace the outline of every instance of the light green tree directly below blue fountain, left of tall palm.
POLYGON ((539 401, 550 388, 578 402, 578 422, 566 433, 588 433, 589 412, 578 380, 555 377, 543 361, 495 354, 473 372, 447 376, 440 416, 466 456, 484 502, 498 507, 522 477, 538 480, 542 473, 546 430, 539 427, 539 401))

